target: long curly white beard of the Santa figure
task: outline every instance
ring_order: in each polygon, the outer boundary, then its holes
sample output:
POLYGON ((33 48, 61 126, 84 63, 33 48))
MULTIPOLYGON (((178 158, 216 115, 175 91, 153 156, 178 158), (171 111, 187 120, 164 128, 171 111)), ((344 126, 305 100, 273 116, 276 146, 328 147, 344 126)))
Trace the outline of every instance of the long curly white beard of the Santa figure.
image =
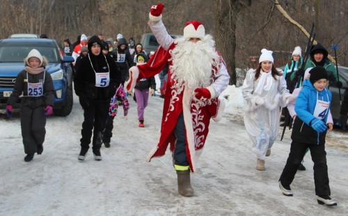
POLYGON ((180 93, 184 85, 191 90, 209 86, 219 62, 212 36, 205 35, 196 43, 177 38, 175 43, 176 46, 171 51, 173 65, 170 67, 171 79, 175 83, 173 88, 177 88, 180 93))

